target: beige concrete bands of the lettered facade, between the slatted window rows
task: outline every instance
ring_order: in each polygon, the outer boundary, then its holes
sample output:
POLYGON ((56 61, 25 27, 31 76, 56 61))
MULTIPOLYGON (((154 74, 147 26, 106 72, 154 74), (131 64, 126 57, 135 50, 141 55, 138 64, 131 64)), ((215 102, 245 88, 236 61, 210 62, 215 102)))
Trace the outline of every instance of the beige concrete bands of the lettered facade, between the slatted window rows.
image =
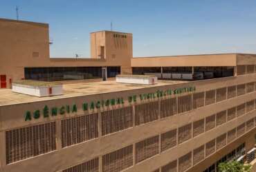
MULTIPOLYGON (((242 85, 244 83, 252 83, 255 82, 256 75, 250 74, 248 76, 237 76, 230 78, 219 78, 215 80, 202 80, 202 81, 194 81, 189 83, 178 83, 171 85, 159 85, 157 87, 148 87, 148 88, 140 88, 140 89, 131 89, 120 92, 110 92, 110 93, 101 93, 101 94, 93 94, 88 96, 77 96, 70 98, 57 98, 55 100, 42 100, 35 103, 21 103, 18 105, 3 105, 1 106, 1 140, 5 140, 6 131, 12 129, 20 129, 29 126, 35 126, 39 124, 44 124, 48 122, 56 122, 56 130, 62 131, 61 129, 61 120, 66 118, 78 117, 89 115, 93 113, 102 113, 102 111, 109 111, 111 109, 120 109, 122 107, 131 106, 135 109, 136 105, 140 105, 141 103, 149 103, 149 102, 161 102, 166 98, 174 98, 174 97, 182 97, 187 94, 181 94, 179 96, 163 96, 161 98, 153 98, 149 100, 137 100, 136 103, 128 103, 127 97, 131 95, 139 95, 145 93, 156 92, 157 90, 165 90, 165 89, 176 89, 179 87, 196 87, 196 91, 192 92, 189 95, 195 95, 197 92, 208 92, 210 90, 215 90, 219 88, 228 88, 233 85, 242 85), (223 82, 225 81, 225 82, 223 82), (123 105, 115 105, 109 108, 100 108, 93 109, 92 111, 83 111, 81 109, 82 103, 97 101, 102 99, 111 99, 111 98, 124 98, 125 104, 123 105), (26 111, 35 111, 36 109, 43 109, 45 105, 48 107, 61 107, 62 105, 72 105, 76 104, 78 109, 77 113, 66 114, 64 116, 50 116, 50 118, 40 117, 38 120, 30 120, 24 121, 24 113, 26 111), (15 118, 15 120, 13 120, 15 118)), ((177 144, 175 147, 171 149, 167 149, 161 153, 157 153, 151 158, 147 158, 142 162, 135 164, 134 166, 129 167, 129 169, 125 171, 152 171, 152 169, 161 168, 165 164, 172 162, 173 160, 177 160, 181 156, 186 153, 193 151, 196 147, 203 145, 213 138, 217 138, 223 133, 227 133, 234 127, 237 127, 244 122, 247 122, 250 119, 254 119, 256 117, 255 114, 255 101, 256 92, 250 92, 248 94, 243 94, 241 96, 236 96, 234 98, 229 98, 225 100, 221 100, 220 102, 213 103, 212 105, 205 105, 200 108, 192 109, 190 111, 186 111, 184 113, 179 113, 174 116, 170 116, 167 118, 161 118, 161 114, 158 114, 158 120, 154 120, 152 122, 147 122, 144 125, 133 125, 134 127, 129 127, 125 130, 111 133, 107 136, 100 136, 93 140, 88 140, 86 142, 81 142, 78 144, 74 144, 70 147, 62 148, 62 135, 61 132, 57 132, 57 148, 55 151, 51 151, 49 153, 45 153, 42 155, 37 155, 33 158, 24 159, 15 163, 6 164, 6 144, 1 144, 1 164, 3 171, 33 171, 37 168, 37 171, 62 171, 63 169, 67 169, 70 166, 74 166, 76 164, 80 164, 82 162, 86 162, 87 160, 91 160, 93 158, 99 157, 102 158, 102 155, 107 153, 111 153, 118 149, 122 149, 128 145, 135 145, 137 142, 141 140, 145 140, 146 138, 150 138, 152 136, 159 136, 161 133, 165 133, 166 131, 170 131, 172 129, 177 129, 184 125, 188 125, 191 122, 195 122, 197 120, 201 120, 207 118, 208 116, 212 116, 212 114, 217 114, 219 111, 223 111, 226 109, 230 109, 232 107, 236 107, 246 102, 250 102, 253 100, 253 110, 248 111, 246 114, 242 116, 237 116, 232 120, 224 122, 222 125, 214 127, 209 131, 205 131, 201 133, 199 136, 192 137, 189 140, 177 144), (58 146, 59 145, 59 146, 58 146)), ((158 107, 159 109, 164 107, 158 107)), ((136 116, 136 112, 134 112, 133 116, 136 116)), ((100 118, 98 118, 100 119, 100 118)), ((135 121, 134 121, 135 122, 135 121)), ((100 121, 98 121, 101 124, 100 121)), ((232 142, 227 143, 226 146, 223 146, 220 150, 216 151, 216 153, 210 155, 208 158, 202 160, 199 164, 193 166, 189 171, 203 171, 206 167, 210 166, 212 163, 216 162, 218 158, 221 158, 224 153, 227 153, 229 150, 237 147, 239 143, 246 142, 246 150, 254 147, 254 122, 253 129, 248 129, 241 136, 232 140, 232 142)), ((100 129, 101 130, 101 129, 100 129)), ((100 131, 99 131, 100 133, 100 131)), ((135 153, 135 152, 134 152, 135 153)), ((134 160, 135 161, 135 160, 134 160)), ((102 171, 102 169, 99 169, 102 171)))

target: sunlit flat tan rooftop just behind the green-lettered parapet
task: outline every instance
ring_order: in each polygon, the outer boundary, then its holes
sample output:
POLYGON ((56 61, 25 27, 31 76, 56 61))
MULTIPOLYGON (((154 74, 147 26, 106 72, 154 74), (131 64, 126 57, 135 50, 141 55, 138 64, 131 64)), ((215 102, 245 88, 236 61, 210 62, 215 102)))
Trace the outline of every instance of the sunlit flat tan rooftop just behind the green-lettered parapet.
MULTIPOLYGON (((86 81, 85 81, 86 82, 86 81)), ((188 83, 185 80, 159 80, 154 85, 138 85, 128 83, 116 83, 116 80, 107 80, 93 83, 69 83, 63 84, 64 94, 61 96, 36 97, 26 94, 12 92, 11 89, 0 89, 0 107, 6 105, 17 105, 22 103, 33 103, 44 100, 55 100, 59 98, 71 98, 76 96, 86 96, 93 94, 104 94, 109 92, 120 92, 125 90, 141 89, 147 87, 158 87, 163 85, 174 85, 188 83)))

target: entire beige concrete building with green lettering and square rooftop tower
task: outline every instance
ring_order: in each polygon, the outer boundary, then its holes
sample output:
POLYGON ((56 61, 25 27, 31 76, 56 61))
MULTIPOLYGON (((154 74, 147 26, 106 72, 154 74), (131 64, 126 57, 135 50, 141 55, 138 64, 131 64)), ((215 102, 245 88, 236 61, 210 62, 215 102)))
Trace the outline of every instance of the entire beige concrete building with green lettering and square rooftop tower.
POLYGON ((198 172, 255 146, 255 54, 132 58, 132 34, 102 31, 91 33, 91 58, 57 59, 47 24, 0 19, 0 30, 0 74, 13 80, 24 67, 235 69, 156 85, 65 81, 64 95, 46 98, 0 89, 0 171, 198 172))

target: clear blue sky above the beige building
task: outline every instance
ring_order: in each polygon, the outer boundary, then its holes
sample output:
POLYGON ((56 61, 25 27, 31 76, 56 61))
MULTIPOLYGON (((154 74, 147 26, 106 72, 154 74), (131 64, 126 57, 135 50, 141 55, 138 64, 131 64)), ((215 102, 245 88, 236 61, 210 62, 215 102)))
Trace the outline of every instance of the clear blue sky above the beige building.
MULTIPOLYGON (((134 56, 256 54, 255 0, 1 0, 0 18, 49 23, 51 57, 90 56, 89 33, 134 34, 134 56)), ((0 31, 1 32, 1 31, 0 31)))

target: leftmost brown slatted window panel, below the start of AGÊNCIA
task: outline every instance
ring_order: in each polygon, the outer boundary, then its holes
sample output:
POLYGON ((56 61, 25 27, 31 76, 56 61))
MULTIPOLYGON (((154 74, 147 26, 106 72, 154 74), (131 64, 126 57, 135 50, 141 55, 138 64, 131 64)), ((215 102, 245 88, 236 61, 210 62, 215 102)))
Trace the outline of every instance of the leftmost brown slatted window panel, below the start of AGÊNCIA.
POLYGON ((56 150, 55 122, 6 131, 6 164, 56 150))

